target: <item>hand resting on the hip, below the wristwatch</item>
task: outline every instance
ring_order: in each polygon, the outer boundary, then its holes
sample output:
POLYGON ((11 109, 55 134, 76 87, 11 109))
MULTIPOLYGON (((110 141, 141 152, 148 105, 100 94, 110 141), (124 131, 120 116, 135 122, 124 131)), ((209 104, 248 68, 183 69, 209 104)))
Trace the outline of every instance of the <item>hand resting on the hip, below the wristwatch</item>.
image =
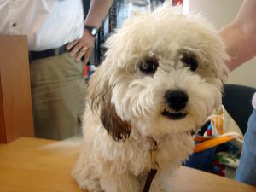
POLYGON ((83 63, 86 64, 90 60, 90 54, 94 47, 95 37, 91 36, 87 30, 84 30, 82 38, 74 40, 67 44, 66 49, 69 51, 69 56, 75 56, 74 60, 79 62, 84 56, 83 63))

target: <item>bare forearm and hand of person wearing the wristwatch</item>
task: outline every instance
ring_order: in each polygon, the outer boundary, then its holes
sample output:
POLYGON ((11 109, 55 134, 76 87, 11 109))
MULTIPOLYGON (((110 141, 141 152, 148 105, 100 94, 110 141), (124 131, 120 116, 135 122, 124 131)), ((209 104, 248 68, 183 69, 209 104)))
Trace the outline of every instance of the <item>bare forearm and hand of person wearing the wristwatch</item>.
MULTIPOLYGON (((112 3, 113 0, 91 0, 90 9, 86 19, 84 20, 84 25, 96 26, 96 28, 99 28, 102 25, 102 21, 108 14, 108 10, 112 3)), ((95 37, 84 29, 82 38, 67 44, 67 50, 70 50, 69 55, 75 56, 75 61, 80 61, 84 56, 84 64, 86 64, 90 59, 90 54, 94 47, 94 41, 95 37)))

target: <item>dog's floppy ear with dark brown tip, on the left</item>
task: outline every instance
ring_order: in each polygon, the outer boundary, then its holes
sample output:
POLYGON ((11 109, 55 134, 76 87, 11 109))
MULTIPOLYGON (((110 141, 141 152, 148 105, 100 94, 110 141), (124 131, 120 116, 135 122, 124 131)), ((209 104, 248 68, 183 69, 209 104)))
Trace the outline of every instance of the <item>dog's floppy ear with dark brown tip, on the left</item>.
POLYGON ((99 113, 102 125, 115 141, 125 141, 131 133, 131 125, 120 119, 111 103, 112 87, 104 67, 98 67, 88 85, 87 102, 94 113, 99 113))

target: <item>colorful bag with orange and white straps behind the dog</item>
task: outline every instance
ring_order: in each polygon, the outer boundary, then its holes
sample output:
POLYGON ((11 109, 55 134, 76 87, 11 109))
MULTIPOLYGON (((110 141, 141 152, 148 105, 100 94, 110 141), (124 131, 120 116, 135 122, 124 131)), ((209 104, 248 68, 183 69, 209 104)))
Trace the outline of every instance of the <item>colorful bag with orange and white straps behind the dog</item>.
POLYGON ((239 164, 243 135, 224 106, 207 118, 195 137, 195 153, 185 166, 234 178, 239 164))

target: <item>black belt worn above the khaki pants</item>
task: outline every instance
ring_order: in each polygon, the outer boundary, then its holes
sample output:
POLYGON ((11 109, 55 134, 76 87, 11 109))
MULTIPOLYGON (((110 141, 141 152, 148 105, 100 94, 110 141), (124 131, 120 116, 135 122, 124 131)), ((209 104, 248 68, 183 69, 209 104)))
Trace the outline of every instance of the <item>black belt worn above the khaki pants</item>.
POLYGON ((61 55, 67 52, 67 44, 55 49, 47 49, 42 51, 29 51, 29 61, 43 59, 50 56, 61 55))

